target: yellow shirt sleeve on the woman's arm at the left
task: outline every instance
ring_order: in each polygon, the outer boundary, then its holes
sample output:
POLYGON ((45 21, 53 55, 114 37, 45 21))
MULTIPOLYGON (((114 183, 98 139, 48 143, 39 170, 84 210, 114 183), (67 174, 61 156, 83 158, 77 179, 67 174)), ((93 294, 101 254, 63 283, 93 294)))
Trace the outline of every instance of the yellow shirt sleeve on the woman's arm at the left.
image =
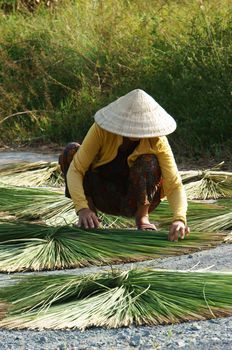
POLYGON ((67 184, 76 212, 88 208, 83 188, 83 178, 101 148, 101 133, 101 129, 94 123, 69 166, 67 184))

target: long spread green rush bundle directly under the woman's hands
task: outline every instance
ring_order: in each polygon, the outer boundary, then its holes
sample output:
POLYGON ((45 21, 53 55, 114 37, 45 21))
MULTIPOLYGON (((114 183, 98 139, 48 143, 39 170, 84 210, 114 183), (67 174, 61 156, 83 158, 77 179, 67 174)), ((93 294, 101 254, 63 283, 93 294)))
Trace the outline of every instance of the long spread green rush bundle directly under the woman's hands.
POLYGON ((82 230, 38 224, 0 224, 0 271, 51 270, 142 261, 216 246, 223 234, 192 232, 169 242, 167 231, 82 230))

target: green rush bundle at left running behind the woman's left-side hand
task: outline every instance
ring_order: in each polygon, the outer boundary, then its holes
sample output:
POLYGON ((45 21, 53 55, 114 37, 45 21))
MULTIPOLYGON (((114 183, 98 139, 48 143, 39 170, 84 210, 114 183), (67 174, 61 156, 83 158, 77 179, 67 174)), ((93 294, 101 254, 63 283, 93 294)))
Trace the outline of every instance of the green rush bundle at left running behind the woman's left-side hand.
MULTIPOLYGON (((75 224, 77 214, 71 199, 64 197, 63 192, 54 189, 0 187, 1 216, 14 215, 22 220, 39 220, 47 225, 59 226, 75 224)), ((99 219, 104 228, 132 227, 133 221, 128 218, 106 215, 99 212, 99 219)))

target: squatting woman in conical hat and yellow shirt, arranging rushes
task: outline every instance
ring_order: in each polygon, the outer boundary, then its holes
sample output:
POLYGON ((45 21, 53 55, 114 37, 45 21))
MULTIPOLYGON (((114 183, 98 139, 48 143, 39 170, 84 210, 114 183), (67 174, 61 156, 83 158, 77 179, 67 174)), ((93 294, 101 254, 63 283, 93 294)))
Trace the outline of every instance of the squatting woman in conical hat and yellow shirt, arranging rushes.
POLYGON ((99 227, 100 210, 134 217, 138 229, 155 230, 149 212, 166 196, 173 212, 169 240, 183 239, 189 232, 187 200, 165 136, 176 129, 174 119, 139 89, 100 109, 94 119, 67 172, 78 226, 99 227))

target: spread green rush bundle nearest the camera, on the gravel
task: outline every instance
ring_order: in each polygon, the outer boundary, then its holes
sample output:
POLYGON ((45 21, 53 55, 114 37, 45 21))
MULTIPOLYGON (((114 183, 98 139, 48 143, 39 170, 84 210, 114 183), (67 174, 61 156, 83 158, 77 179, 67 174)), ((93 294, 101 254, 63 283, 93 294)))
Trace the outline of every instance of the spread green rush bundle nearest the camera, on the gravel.
MULTIPOLYGON (((5 328, 116 328, 232 315, 232 274, 155 270, 23 278, 5 288, 5 328)), ((2 302, 2 305, 3 302, 2 302)))

